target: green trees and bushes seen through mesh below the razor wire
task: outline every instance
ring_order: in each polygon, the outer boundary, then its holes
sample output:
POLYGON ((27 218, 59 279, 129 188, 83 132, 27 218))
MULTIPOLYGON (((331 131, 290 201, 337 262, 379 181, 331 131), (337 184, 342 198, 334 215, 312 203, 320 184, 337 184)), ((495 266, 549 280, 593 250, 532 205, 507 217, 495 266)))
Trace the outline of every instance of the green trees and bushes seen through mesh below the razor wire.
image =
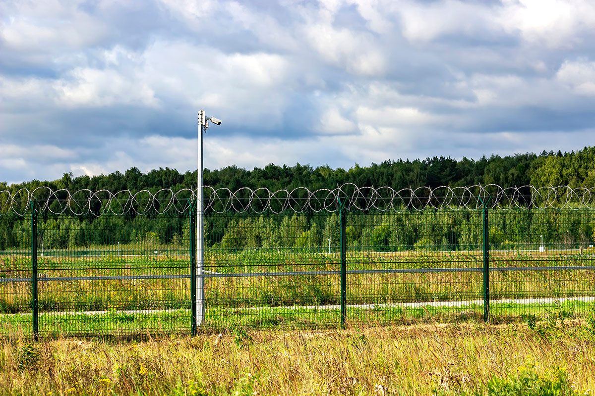
MULTIPOLYGON (((39 248, 88 251, 189 249, 189 213, 145 216, 51 216, 38 218, 39 248)), ((0 215, 0 252, 30 248, 30 216, 0 215)), ((347 214, 349 251, 467 251, 481 248, 481 211, 351 211, 347 214)), ((595 241, 595 211, 491 210, 490 249, 587 249, 595 241)), ((302 249, 326 252, 340 244, 337 213, 208 213, 205 246, 236 252, 244 249, 302 249)))

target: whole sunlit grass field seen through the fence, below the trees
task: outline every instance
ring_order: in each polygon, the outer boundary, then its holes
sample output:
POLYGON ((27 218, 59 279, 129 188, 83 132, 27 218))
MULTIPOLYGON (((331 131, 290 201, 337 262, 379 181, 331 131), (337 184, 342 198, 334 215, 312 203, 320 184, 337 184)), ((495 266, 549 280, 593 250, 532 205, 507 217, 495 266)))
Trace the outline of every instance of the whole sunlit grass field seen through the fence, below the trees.
MULTIPOLYGON (((182 252, 162 249, 158 254, 115 255, 113 251, 105 254, 105 250, 99 249, 71 255, 52 251, 40 257, 40 331, 48 334, 118 334, 148 329, 187 331, 190 322, 189 256, 182 252), (139 276, 152 278, 134 279, 139 276), (171 276, 177 278, 167 278, 171 276), (79 278, 48 280, 70 277, 79 278), (88 280, 86 277, 104 278, 88 280)), ((339 274, 300 273, 338 271, 338 263, 338 254, 308 251, 219 251, 207 254, 205 270, 213 276, 205 279, 207 324, 212 328, 236 325, 336 327, 340 324, 339 310, 325 309, 325 306, 339 304, 339 274), (267 275, 286 272, 293 275, 267 275), (228 277, 230 274, 258 275, 228 277)), ((492 271, 490 275, 491 299, 494 300, 491 315, 500 322, 510 318, 518 320, 524 315, 543 316, 552 309, 562 309, 568 317, 581 316, 588 306, 585 302, 515 304, 498 303, 498 300, 593 296, 595 271, 590 268, 525 271, 533 267, 593 264, 594 256, 590 253, 493 252, 491 267, 507 271, 492 271), (513 270, 508 271, 510 268, 513 270)), ((481 252, 351 253, 347 255, 347 270, 355 273, 347 275, 347 304, 352 306, 347 312, 348 321, 405 324, 481 318, 483 306, 477 303, 449 306, 447 302, 476 302, 483 298, 483 274, 481 271, 465 271, 482 265, 481 252), (463 271, 432 272, 449 268, 463 271), (374 272, 377 270, 384 272, 374 272), (390 272, 394 270, 416 272, 390 272), (430 302, 444 302, 444 306, 404 306, 430 302), (366 307, 359 307, 361 305, 366 307)), ((30 261, 23 256, 0 256, 0 268, 2 278, 30 277, 30 261)), ((27 329, 30 326, 30 303, 29 282, 0 282, 0 314, 5 318, 0 332, 6 334, 19 325, 27 329)))

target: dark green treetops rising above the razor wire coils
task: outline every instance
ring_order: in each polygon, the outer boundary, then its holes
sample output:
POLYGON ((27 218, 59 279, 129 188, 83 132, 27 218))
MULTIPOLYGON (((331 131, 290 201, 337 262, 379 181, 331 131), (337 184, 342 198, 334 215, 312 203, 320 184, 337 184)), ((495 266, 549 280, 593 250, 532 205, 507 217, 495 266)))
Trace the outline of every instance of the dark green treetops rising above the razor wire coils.
MULTIPOLYGON (((390 186, 394 189, 417 188, 428 186, 472 186, 497 184, 509 186, 559 186, 572 188, 595 186, 595 147, 569 153, 543 151, 541 154, 525 153, 500 157, 481 157, 478 160, 455 160, 450 157, 433 157, 424 160, 386 160, 372 163, 369 166, 355 164, 349 170, 333 169, 330 166, 296 164, 295 166, 279 166, 269 164, 255 167, 252 170, 237 166, 221 169, 205 169, 204 184, 213 188, 229 188, 234 191, 240 187, 266 187, 271 191, 278 189, 291 190, 296 187, 307 187, 311 190, 319 188, 336 188, 344 183, 355 183, 360 187, 390 186)), ((29 190, 39 186, 52 189, 68 189, 77 191, 89 189, 98 191, 107 189, 117 192, 132 192, 147 189, 151 192, 161 188, 178 191, 183 188, 196 188, 196 170, 180 173, 176 169, 159 168, 147 173, 132 167, 126 172, 114 172, 109 175, 77 176, 64 173, 58 180, 12 184, 0 182, 0 191, 12 193, 21 188, 29 190)))

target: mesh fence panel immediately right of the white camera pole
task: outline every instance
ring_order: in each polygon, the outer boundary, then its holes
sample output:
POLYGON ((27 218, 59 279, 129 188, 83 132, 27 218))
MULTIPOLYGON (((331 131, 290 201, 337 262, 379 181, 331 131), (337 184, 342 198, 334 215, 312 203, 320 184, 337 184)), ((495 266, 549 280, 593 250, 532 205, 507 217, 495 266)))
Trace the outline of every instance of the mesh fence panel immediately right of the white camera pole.
POLYGON ((206 214, 205 327, 340 323, 336 214, 206 214))

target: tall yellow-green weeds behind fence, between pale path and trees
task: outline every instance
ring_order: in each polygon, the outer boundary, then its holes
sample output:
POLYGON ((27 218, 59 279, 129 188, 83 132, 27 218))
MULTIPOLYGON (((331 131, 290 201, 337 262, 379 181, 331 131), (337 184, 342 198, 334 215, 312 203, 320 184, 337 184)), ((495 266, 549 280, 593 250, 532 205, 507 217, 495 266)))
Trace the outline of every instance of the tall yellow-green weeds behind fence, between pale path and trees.
MULTIPOLYGON (((493 268, 543 266, 591 266, 591 254, 491 255, 493 268), (571 261, 570 261, 571 260, 571 261)), ((338 271, 337 254, 313 255, 284 252, 218 253, 205 256, 205 270, 218 274, 258 276, 209 277, 205 280, 207 302, 214 306, 251 308, 267 306, 333 305, 339 299, 338 274, 301 275, 304 271, 338 271), (267 273, 297 272, 266 276, 267 273)), ((348 271, 408 270, 432 268, 480 268, 481 252, 359 252, 347 255, 348 271)), ((27 258, 0 257, 3 277, 30 277, 27 258)), ((121 257, 44 256, 39 263, 39 308, 46 312, 121 311, 187 308, 190 300, 189 256, 146 255, 121 257), (146 279, 90 279, 84 277, 149 276, 146 279), (177 278, 159 278, 159 277, 177 278), (180 278, 182 276, 182 278, 180 278), (185 278, 183 277, 185 276, 185 278), (45 278, 83 277, 47 281, 45 278)), ((350 273, 350 304, 383 304, 477 300, 483 295, 482 274, 475 272, 350 273)), ((559 298, 590 296, 592 270, 494 271, 491 298, 559 298)), ((30 283, 0 283, 0 313, 30 311, 30 283)))

